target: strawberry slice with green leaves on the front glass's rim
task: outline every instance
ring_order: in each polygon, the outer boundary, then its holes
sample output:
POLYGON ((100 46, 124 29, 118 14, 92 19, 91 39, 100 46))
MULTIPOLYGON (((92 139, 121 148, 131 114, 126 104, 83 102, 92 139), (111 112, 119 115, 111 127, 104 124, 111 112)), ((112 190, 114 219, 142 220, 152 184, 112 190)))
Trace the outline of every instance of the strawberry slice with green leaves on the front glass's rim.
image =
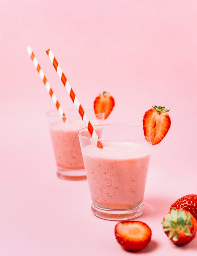
POLYGON ((147 140, 150 140, 153 145, 158 144, 168 132, 171 120, 167 112, 162 106, 153 106, 153 108, 146 111, 143 118, 144 136, 147 136, 147 140))

